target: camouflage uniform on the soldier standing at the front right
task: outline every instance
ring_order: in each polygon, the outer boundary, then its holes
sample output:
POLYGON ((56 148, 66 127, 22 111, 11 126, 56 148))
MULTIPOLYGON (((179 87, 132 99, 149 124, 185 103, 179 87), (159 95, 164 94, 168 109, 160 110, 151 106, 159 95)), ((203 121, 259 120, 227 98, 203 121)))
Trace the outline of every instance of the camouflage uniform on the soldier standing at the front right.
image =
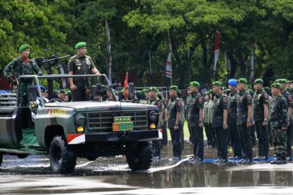
POLYGON ((287 109, 288 104, 283 95, 273 98, 270 107, 269 121, 271 124, 271 133, 273 136, 273 145, 277 157, 286 157, 287 136, 282 127, 287 127, 287 109))

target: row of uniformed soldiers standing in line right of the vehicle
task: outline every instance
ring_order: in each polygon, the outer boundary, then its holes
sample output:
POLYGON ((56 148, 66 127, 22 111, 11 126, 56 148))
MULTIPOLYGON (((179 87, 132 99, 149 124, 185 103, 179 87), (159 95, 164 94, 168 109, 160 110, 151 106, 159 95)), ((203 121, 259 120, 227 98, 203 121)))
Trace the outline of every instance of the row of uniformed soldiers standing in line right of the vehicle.
MULTIPOLYGON (((277 79, 271 88, 264 88, 262 79, 256 79, 253 84, 255 91, 248 90, 245 78, 230 79, 229 89, 223 89, 222 83, 215 81, 212 90, 201 94, 200 83, 190 83, 189 95, 185 101, 185 117, 194 157, 189 162, 202 162, 204 159, 203 130, 208 145, 216 145, 218 150, 218 159, 214 161, 216 163, 225 163, 228 159, 241 164, 250 164, 253 159, 268 160, 269 138, 272 139, 277 157, 271 163, 285 164, 287 160, 291 160, 293 81, 288 84, 286 79, 277 79), (287 85, 292 89, 287 88, 287 85), (252 137, 254 130, 258 139, 258 156, 255 158, 252 137), (228 142, 231 143, 234 154, 229 158, 228 142)), ((140 103, 158 107, 161 113, 159 127, 170 129, 172 159, 180 160, 183 148, 184 102, 179 97, 177 86, 170 86, 169 89, 169 102, 158 93, 156 87, 151 87, 144 91, 145 99, 140 100, 140 103)), ((155 159, 160 158, 161 146, 162 142, 153 141, 155 159)))

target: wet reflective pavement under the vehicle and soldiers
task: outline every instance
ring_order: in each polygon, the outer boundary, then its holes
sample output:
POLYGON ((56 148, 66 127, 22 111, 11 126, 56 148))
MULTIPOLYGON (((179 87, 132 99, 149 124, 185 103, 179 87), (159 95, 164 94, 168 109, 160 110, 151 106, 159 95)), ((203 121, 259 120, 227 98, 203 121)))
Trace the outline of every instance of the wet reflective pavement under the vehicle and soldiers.
POLYGON ((0 167, 0 194, 232 194, 239 189, 246 194, 293 192, 291 162, 213 164, 216 150, 205 148, 206 162, 190 164, 192 151, 185 143, 183 159, 172 162, 172 146, 164 146, 162 159, 141 172, 130 171, 122 156, 101 157, 95 162, 78 159, 75 172, 68 175, 53 174, 46 156, 18 159, 5 155, 0 167))

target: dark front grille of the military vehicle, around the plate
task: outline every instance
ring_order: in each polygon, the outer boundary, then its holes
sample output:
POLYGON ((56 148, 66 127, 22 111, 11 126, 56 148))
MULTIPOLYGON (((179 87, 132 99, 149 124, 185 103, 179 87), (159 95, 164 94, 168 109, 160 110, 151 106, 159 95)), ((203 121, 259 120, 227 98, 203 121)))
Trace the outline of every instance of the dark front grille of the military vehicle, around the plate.
POLYGON ((133 130, 147 129, 147 111, 93 112, 88 114, 89 130, 112 131, 114 116, 131 116, 133 130))

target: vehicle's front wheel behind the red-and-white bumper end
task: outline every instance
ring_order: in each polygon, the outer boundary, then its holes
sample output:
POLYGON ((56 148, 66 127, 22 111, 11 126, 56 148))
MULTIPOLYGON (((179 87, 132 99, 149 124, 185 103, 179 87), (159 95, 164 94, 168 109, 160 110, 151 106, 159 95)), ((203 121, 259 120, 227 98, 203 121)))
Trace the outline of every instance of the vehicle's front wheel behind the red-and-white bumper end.
POLYGON ((76 155, 69 150, 66 141, 56 136, 50 146, 50 166, 54 173, 72 173, 76 165, 76 155))

